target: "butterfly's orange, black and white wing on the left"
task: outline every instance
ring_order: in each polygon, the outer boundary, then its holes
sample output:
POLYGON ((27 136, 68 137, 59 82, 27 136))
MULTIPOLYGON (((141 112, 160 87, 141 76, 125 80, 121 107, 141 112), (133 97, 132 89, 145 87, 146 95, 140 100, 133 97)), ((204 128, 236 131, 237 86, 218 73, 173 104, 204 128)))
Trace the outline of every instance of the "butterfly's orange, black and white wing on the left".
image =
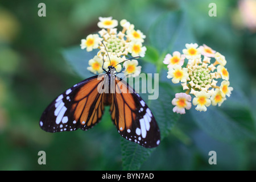
POLYGON ((98 123, 104 113, 104 93, 98 86, 105 75, 93 76, 72 86, 44 110, 40 127, 48 132, 88 130, 98 123))

